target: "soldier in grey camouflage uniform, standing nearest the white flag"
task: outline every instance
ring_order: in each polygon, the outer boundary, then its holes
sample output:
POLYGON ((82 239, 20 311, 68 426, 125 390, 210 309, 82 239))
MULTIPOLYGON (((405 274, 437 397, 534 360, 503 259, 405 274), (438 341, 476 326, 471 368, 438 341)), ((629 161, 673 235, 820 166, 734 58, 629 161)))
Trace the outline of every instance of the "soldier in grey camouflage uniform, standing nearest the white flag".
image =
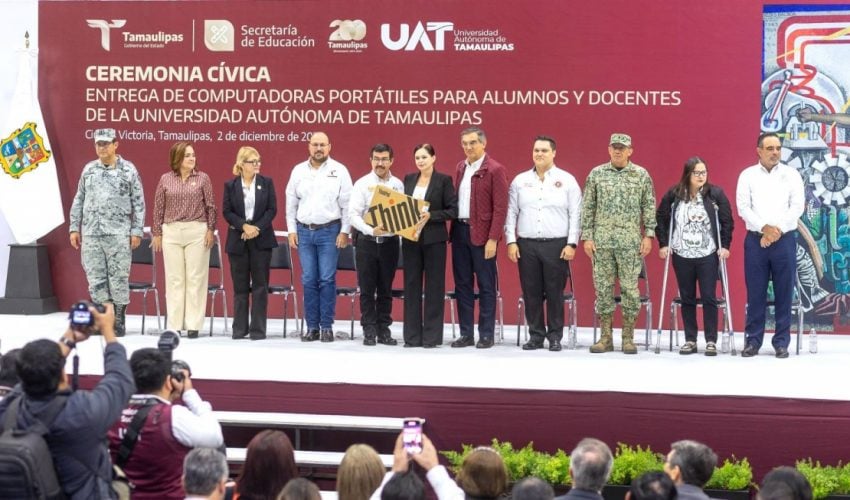
POLYGON ((115 130, 96 130, 94 142, 98 159, 83 167, 71 205, 71 246, 82 246, 89 295, 115 305, 115 333, 123 336, 130 260, 142 241, 145 196, 135 165, 116 154, 115 130))

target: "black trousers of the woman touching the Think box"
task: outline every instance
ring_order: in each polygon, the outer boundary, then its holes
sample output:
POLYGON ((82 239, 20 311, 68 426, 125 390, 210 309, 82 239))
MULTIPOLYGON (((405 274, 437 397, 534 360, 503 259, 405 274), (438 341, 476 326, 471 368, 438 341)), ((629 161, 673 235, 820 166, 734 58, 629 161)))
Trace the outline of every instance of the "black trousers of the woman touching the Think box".
POLYGON ((446 242, 423 245, 404 240, 401 251, 404 253, 404 342, 415 346, 442 344, 446 310, 446 242))

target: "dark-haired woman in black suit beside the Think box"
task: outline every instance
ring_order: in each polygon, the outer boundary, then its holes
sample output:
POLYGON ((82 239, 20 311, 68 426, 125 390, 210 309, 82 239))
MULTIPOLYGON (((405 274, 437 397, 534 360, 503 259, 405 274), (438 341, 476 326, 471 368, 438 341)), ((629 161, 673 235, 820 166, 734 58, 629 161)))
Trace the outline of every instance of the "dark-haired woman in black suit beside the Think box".
POLYGON ((402 240, 404 258, 404 347, 437 347, 443 343, 446 293, 446 222, 457 217, 457 195, 451 176, 434 170, 434 147, 413 149, 417 173, 404 178, 404 193, 430 203, 418 227, 419 241, 402 240), (422 282, 425 281, 423 316, 422 282), (423 321, 424 318, 424 321, 423 321))

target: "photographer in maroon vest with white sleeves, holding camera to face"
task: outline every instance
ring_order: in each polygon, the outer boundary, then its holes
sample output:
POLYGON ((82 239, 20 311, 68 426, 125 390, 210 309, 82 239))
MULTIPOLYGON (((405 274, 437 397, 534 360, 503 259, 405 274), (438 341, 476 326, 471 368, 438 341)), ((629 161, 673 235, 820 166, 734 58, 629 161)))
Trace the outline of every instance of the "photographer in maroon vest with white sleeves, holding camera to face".
POLYGON ((182 499, 183 458, 192 448, 220 448, 224 439, 212 406, 192 387, 189 366, 171 360, 179 336, 166 331, 159 348, 130 357, 138 392, 109 431, 113 462, 133 483, 133 499, 182 499), (183 400, 183 405, 172 404, 183 400))

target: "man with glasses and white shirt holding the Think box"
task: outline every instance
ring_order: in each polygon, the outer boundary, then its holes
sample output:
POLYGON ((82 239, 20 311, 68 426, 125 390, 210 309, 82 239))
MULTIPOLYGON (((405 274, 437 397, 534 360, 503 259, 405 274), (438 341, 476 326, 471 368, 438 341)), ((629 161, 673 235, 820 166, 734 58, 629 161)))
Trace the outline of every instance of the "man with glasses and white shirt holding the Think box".
POLYGON ((392 318, 393 278, 398 264, 398 236, 382 226, 370 227, 363 220, 375 186, 383 186, 404 193, 404 184, 390 172, 393 166, 393 148, 389 144, 376 144, 369 153, 372 171, 354 183, 348 216, 357 249, 357 282, 360 284, 360 326, 363 328, 363 345, 396 345, 390 325, 392 318))

